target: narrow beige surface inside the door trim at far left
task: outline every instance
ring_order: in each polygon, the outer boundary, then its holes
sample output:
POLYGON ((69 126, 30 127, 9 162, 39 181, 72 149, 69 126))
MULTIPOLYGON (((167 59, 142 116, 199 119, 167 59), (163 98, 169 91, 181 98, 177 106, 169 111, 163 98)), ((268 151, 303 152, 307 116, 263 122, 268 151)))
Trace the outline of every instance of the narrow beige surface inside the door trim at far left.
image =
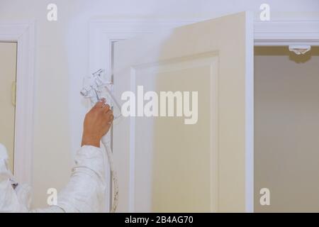
POLYGON ((0 143, 6 146, 13 171, 14 119, 13 82, 16 82, 16 43, 0 42, 0 143))

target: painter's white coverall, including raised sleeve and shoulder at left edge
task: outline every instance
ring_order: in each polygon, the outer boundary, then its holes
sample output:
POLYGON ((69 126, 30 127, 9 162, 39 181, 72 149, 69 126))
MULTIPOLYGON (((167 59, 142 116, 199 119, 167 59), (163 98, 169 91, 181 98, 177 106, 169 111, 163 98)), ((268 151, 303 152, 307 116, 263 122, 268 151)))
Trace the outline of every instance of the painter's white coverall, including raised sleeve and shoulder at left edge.
MULTIPOLYGON (((13 189, 6 165, 6 149, 0 144, 0 212, 28 212, 30 187, 13 189)), ((101 148, 83 146, 75 155, 75 165, 65 189, 57 195, 57 205, 31 212, 103 212, 106 209, 104 155, 101 148)))

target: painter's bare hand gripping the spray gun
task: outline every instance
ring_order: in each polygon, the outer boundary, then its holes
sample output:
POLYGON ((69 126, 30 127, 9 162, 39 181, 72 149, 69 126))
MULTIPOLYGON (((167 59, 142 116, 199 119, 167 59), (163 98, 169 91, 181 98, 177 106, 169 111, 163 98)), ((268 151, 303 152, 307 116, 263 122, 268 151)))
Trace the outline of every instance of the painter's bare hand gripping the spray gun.
POLYGON ((106 100, 97 102, 85 115, 82 146, 92 145, 99 148, 101 138, 111 128, 113 118, 113 111, 106 104, 106 100))

